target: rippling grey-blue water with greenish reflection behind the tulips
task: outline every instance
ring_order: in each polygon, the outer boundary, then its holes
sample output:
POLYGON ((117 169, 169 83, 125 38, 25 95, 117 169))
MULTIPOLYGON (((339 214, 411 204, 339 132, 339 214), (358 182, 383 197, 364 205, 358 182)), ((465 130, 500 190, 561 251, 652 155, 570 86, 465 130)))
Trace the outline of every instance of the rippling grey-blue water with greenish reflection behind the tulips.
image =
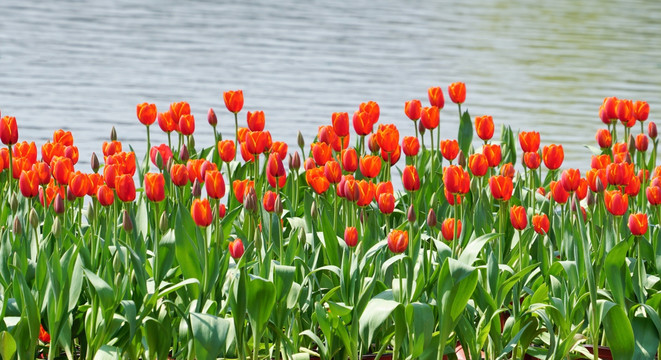
MULTIPOLYGON (((209 146, 207 110, 232 136, 221 93, 243 89, 244 113, 264 110, 274 139, 293 146, 296 130, 309 141, 332 112, 367 100, 380 122, 412 134, 404 102, 463 81, 471 115, 538 130, 543 144, 565 146, 565 167, 585 168, 604 97, 647 100, 658 120, 661 2, 533 4, 3 0, 0 109, 17 117, 22 140, 72 130, 85 162, 112 125, 144 154, 143 101, 188 101, 197 143, 209 146)), ((442 138, 456 136, 453 105, 442 138)))

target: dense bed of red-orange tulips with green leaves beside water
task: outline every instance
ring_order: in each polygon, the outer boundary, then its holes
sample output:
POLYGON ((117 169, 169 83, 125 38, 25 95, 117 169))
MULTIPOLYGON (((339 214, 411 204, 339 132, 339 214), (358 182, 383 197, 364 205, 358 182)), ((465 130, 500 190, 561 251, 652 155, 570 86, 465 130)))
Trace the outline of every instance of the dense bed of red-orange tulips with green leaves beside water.
POLYGON ((429 106, 404 106, 415 135, 379 124, 369 101, 332 114, 309 147, 299 133, 300 152, 271 139, 262 111, 239 127, 241 90, 223 94, 235 136, 210 109, 206 148, 188 103, 143 103, 149 152, 126 151, 113 128, 88 172, 71 132, 39 154, 2 117, 0 356, 654 358, 649 105, 604 100, 583 177, 538 132, 502 126, 495 140, 491 116, 462 111, 463 83, 447 93, 454 138, 432 87, 429 106), (167 144, 151 144, 156 121, 167 144))

